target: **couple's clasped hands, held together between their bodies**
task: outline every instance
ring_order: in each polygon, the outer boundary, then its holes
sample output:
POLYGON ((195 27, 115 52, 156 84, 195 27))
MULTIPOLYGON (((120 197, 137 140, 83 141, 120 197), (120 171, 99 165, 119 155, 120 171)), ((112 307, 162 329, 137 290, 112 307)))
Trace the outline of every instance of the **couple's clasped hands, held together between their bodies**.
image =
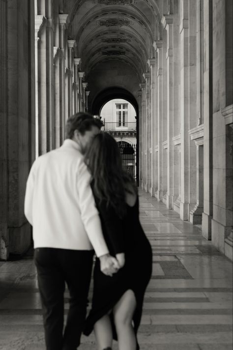
POLYGON ((113 276, 116 272, 124 266, 125 256, 124 253, 116 254, 116 257, 105 254, 99 257, 100 260, 100 270, 106 276, 113 276))

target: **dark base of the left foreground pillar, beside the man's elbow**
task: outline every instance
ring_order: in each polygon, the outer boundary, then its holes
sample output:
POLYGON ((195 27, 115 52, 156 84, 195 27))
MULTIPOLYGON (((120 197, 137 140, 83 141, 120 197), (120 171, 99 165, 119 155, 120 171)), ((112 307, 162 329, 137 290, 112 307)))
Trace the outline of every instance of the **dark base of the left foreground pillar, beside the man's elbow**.
POLYGON ((31 226, 27 222, 21 227, 9 228, 10 253, 23 254, 31 245, 31 226))

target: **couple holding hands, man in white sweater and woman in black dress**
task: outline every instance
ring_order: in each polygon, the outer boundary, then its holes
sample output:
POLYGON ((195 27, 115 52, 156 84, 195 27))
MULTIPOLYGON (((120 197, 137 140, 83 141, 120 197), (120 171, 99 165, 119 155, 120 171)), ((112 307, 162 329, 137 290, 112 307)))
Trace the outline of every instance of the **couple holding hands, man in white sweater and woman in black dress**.
POLYGON ((151 247, 137 188, 101 125, 87 113, 70 117, 63 145, 33 163, 27 182, 25 215, 33 226, 47 350, 76 350, 82 333, 93 329, 98 350, 111 350, 113 339, 119 350, 139 349, 151 247), (70 304, 63 332, 65 283, 70 304))

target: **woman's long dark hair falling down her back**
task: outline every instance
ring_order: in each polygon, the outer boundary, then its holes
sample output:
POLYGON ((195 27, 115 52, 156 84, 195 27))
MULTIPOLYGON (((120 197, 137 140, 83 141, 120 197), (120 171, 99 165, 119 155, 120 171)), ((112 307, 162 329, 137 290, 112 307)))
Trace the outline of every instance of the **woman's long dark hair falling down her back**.
POLYGON ((85 162, 92 175, 95 196, 100 202, 106 200, 122 218, 126 212, 125 194, 135 193, 136 186, 122 169, 116 140, 107 133, 96 135, 86 152, 85 162))

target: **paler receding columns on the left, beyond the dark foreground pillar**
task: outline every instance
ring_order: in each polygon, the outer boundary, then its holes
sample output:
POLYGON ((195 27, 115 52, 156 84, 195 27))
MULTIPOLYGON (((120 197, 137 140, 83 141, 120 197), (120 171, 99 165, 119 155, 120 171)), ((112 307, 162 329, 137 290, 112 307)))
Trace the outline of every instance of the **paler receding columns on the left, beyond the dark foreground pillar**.
POLYGON ((35 8, 36 156, 59 147, 65 121, 87 110, 87 83, 76 57, 76 41, 68 37, 68 14, 58 1, 39 1, 35 8))

